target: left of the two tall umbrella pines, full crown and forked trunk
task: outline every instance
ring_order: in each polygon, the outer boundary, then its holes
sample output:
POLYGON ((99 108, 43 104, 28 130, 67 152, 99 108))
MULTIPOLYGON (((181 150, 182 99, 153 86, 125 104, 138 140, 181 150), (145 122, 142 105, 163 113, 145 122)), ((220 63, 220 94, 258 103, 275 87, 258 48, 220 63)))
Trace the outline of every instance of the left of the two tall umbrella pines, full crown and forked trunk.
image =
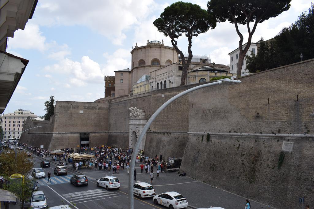
POLYGON ((154 21, 158 31, 169 36, 171 44, 182 58, 181 86, 185 85, 187 70, 192 60, 192 37, 208 31, 209 28, 216 27, 216 20, 208 15, 206 10, 197 4, 176 2, 166 7, 160 14, 160 18, 154 21), (184 54, 177 46, 177 41, 182 34, 188 40, 188 58, 185 60, 184 54))

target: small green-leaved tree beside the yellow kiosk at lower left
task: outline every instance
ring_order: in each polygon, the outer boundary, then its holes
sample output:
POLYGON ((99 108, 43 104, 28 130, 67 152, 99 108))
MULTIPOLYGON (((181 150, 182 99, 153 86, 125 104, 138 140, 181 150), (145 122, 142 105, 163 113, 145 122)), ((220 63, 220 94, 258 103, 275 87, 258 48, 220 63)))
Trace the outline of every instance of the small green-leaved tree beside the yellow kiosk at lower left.
POLYGON ((15 194, 22 202, 21 208, 24 208, 24 202, 29 200, 33 194, 32 184, 33 182, 28 178, 12 179, 4 186, 4 189, 15 194))

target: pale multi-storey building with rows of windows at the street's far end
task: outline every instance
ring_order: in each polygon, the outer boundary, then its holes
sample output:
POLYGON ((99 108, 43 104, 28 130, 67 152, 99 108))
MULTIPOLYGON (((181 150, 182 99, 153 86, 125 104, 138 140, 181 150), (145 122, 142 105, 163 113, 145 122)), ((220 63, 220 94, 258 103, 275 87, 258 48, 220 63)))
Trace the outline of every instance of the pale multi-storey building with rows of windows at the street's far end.
POLYGON ((10 138, 17 138, 18 135, 22 132, 24 121, 26 118, 30 116, 30 118, 35 119, 37 115, 29 110, 15 110, 14 112, 9 112, 7 114, 3 114, 0 116, 1 127, 4 132, 3 139, 8 140, 10 138))

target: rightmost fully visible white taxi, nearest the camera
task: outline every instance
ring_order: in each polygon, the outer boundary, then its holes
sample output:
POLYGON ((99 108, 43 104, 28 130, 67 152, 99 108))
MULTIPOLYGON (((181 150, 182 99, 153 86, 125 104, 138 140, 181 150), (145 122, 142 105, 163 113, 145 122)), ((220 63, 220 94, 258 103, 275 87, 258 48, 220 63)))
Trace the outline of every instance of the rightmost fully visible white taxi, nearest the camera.
POLYGON ((187 199, 175 191, 167 191, 160 195, 156 195, 153 200, 156 205, 160 204, 169 207, 170 209, 185 208, 188 206, 187 199))

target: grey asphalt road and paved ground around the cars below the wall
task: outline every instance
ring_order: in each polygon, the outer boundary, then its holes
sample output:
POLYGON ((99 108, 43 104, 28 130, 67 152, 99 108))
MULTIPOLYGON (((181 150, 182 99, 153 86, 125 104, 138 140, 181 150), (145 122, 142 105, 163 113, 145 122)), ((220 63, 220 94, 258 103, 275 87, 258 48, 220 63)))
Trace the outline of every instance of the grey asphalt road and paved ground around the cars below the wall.
MULTIPOLYGON (((34 156, 39 167, 39 159, 34 156)), ((56 176, 53 174, 53 168, 57 164, 52 162, 51 168, 44 168, 47 173, 51 172, 51 182, 47 183, 47 179, 38 179, 39 190, 43 190, 48 197, 48 206, 57 206, 62 204, 73 203, 76 209, 87 208, 128 208, 128 175, 126 170, 120 170, 119 174, 114 174, 120 182, 119 190, 110 190, 99 188, 96 186, 96 179, 100 179, 106 175, 112 175, 111 171, 89 170, 82 169, 75 171, 72 165, 66 165, 68 168, 68 175, 56 176), (89 179, 88 186, 75 187, 69 183, 72 175, 82 173, 89 179)), ((149 173, 141 174, 140 164, 136 164, 137 180, 150 183, 149 173)), ((133 175, 133 173, 132 173, 133 175)), ((134 181, 135 183, 135 181, 134 181)), ((199 208, 210 206, 220 206, 225 209, 243 209, 245 197, 237 196, 235 194, 215 188, 211 185, 189 178, 188 176, 179 177, 177 173, 161 173, 157 179, 154 176, 152 183, 155 192, 160 194, 165 191, 176 191, 185 196, 189 203, 189 208, 199 208)), ((261 203, 250 201, 252 208, 269 208, 261 203)), ((17 205, 15 205, 17 206, 17 205)), ((10 208, 14 208, 10 207, 10 208)), ((16 207, 18 208, 18 207, 16 207)), ((152 198, 139 200, 134 197, 134 208, 137 209, 164 209, 166 207, 161 205, 154 205, 152 198)))

